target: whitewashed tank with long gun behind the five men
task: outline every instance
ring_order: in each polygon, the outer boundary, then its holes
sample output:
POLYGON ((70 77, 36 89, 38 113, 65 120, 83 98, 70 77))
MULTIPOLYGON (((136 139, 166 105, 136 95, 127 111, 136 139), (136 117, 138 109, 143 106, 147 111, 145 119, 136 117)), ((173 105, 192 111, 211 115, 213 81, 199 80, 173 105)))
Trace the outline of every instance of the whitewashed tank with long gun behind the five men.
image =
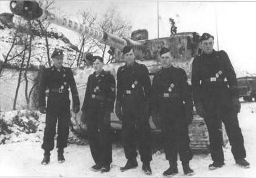
MULTIPOLYGON (((154 73, 160 70, 160 49, 166 47, 174 53, 173 65, 183 68, 187 73, 189 83, 191 82, 192 61, 199 51, 200 35, 197 32, 181 32, 171 34, 171 36, 165 38, 148 39, 147 30, 137 30, 131 34, 131 38, 120 38, 109 32, 93 29, 71 19, 43 10, 35 1, 11 1, 10 9, 15 15, 22 16, 24 19, 31 20, 38 18, 40 20, 47 20, 48 22, 87 35, 103 44, 109 45, 113 49, 115 63, 106 64, 104 69, 111 71, 115 77, 117 69, 124 64, 122 49, 125 45, 130 45, 134 48, 135 60, 138 63, 146 65, 151 74, 151 80, 154 73)), ((84 100, 86 81, 92 72, 93 68, 91 66, 73 69, 79 88, 80 101, 84 100)), ((120 130, 122 122, 118 120, 114 113, 112 113, 111 117, 111 126, 113 129, 120 130)), ((81 122, 81 118, 83 118, 82 113, 73 114, 72 118, 73 128, 75 128, 76 132, 86 134, 86 124, 81 122)), ((160 131, 158 123, 158 120, 153 121, 150 117, 152 132, 160 131)), ((189 136, 193 150, 209 149, 207 127, 203 118, 200 118, 198 115, 195 115, 192 124, 189 126, 189 136)), ((227 140, 226 136, 224 140, 227 140)))

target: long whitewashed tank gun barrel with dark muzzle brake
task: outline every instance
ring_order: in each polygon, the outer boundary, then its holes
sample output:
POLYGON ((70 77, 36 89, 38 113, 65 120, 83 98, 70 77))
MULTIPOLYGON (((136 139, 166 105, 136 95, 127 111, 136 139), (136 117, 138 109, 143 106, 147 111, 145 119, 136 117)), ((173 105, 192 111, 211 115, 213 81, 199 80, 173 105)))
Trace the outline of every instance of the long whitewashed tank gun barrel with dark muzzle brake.
POLYGON ((120 50, 122 50, 125 45, 131 45, 134 47, 142 45, 141 43, 135 42, 131 39, 120 38, 119 36, 110 34, 109 32, 97 30, 63 16, 55 15, 48 10, 43 10, 36 1, 10 1, 10 10, 13 14, 19 15, 24 19, 47 20, 48 22, 76 31, 79 34, 84 34, 103 44, 120 50))

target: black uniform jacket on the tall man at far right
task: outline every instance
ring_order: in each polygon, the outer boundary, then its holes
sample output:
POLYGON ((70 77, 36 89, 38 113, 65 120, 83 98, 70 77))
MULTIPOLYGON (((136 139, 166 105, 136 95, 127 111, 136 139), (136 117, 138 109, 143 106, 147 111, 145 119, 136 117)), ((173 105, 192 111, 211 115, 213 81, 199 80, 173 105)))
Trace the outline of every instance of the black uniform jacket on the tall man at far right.
POLYGON ((239 96, 236 73, 225 51, 196 56, 192 64, 191 82, 195 104, 207 98, 239 96))

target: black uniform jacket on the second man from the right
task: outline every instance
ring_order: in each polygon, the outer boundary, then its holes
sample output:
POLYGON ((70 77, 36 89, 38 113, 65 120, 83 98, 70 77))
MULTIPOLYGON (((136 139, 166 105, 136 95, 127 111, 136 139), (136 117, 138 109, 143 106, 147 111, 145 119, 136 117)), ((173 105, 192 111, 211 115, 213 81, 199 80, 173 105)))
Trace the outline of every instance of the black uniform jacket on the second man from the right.
POLYGON ((153 112, 160 115, 184 115, 185 108, 191 112, 192 96, 187 80, 185 71, 174 66, 162 68, 155 73, 151 97, 153 112))

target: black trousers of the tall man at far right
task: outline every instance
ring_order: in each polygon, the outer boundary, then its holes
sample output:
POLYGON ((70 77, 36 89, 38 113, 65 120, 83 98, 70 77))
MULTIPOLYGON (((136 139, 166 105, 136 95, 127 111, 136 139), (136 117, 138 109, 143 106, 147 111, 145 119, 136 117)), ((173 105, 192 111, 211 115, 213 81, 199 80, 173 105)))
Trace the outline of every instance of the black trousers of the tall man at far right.
POLYGON ((224 154, 222 150, 222 131, 221 121, 225 125, 228 135, 231 151, 234 159, 243 159, 246 157, 245 147, 243 145, 243 136, 238 123, 237 113, 230 102, 228 96, 208 98, 204 102, 205 118, 204 121, 208 128, 210 140, 210 152, 214 162, 223 162, 224 154))

